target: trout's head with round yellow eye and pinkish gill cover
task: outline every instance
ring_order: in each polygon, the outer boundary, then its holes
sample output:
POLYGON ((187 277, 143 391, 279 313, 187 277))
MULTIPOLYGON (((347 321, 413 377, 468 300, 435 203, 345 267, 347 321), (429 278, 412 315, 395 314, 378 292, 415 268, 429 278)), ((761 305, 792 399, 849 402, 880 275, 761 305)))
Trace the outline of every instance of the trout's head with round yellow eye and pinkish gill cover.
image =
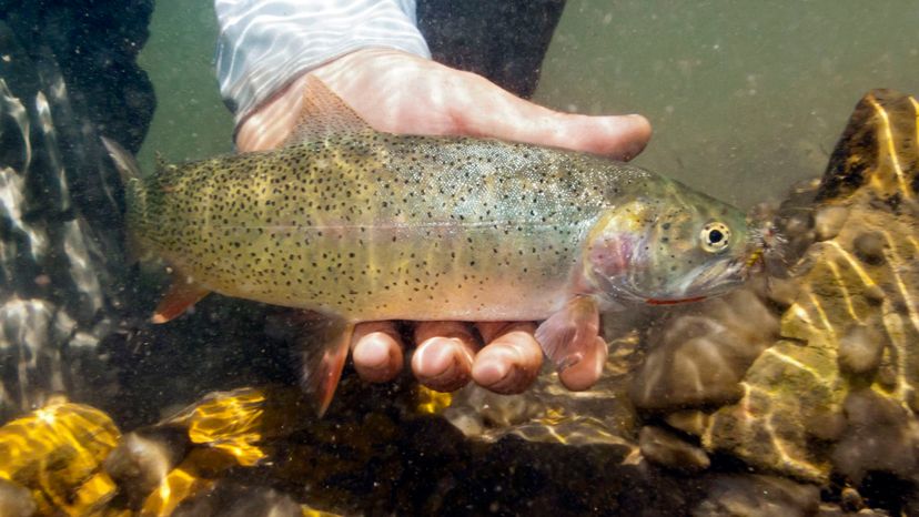
POLYGON ((608 207, 594 224, 583 256, 588 290, 610 305, 668 305, 704 300, 738 286, 761 256, 761 239, 746 215, 668 182, 608 207))

